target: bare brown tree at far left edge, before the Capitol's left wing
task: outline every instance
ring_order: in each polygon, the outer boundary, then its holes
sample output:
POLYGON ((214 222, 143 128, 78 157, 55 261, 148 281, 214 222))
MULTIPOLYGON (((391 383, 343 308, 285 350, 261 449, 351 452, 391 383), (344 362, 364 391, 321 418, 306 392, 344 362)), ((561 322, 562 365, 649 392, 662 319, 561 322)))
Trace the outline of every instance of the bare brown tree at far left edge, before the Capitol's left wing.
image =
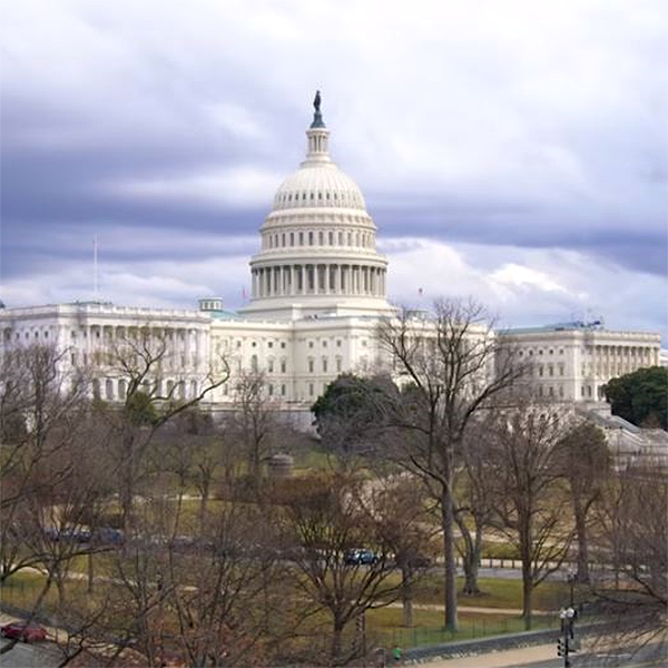
POLYGON ((84 374, 66 376, 65 353, 19 346, 2 356, 0 381, 0 583, 41 560, 35 499, 62 483, 73 462, 63 455, 87 422, 84 374), (43 471, 51 464, 49 475, 43 471))

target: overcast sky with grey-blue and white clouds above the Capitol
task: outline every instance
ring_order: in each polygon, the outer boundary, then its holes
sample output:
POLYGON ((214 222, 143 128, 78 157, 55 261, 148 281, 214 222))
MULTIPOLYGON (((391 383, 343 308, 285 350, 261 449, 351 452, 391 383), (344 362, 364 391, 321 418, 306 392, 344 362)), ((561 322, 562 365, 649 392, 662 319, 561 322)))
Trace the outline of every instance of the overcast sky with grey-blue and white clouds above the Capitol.
POLYGON ((316 88, 390 296, 668 341, 668 3, 3 0, 0 297, 248 291, 316 88))

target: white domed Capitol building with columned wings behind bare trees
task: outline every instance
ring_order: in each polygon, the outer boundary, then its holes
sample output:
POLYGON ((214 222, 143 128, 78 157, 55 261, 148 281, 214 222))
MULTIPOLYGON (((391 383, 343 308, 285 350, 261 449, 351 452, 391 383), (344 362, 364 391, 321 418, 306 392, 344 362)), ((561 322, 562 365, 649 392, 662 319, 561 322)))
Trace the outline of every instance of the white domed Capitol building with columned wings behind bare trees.
MULTIPOLYGON (((108 353, 132 332, 149 330, 169 351, 154 382, 166 390, 176 385, 177 397, 196 395, 225 360, 230 380, 206 395, 204 407, 230 409, 235 376, 257 371, 267 396, 308 423, 310 406, 338 374, 383 366, 375 331, 394 310, 386 294, 387 259, 376 250, 376 226, 357 185, 330 157, 320 105, 306 137, 304 161, 281 184, 261 226, 246 306, 232 312, 222 299, 206 297, 191 311, 102 302, 6 307, 0 310, 1 350, 55 345, 63 352, 63 374, 92 367, 91 392, 118 402, 127 381, 108 353)), ((659 334, 608 331, 599 322, 498 335, 533 362, 532 380, 543 401, 593 411, 603 425, 628 434, 628 423, 609 416, 602 386, 611 377, 665 363, 659 334)))

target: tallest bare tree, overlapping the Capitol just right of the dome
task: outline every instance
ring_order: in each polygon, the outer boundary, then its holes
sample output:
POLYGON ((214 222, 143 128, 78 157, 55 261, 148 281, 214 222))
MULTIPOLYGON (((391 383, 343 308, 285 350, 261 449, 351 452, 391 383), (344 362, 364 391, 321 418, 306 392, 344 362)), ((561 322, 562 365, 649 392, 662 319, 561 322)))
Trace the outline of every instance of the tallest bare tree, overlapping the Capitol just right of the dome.
POLYGON ((472 420, 522 371, 512 354, 495 355, 498 342, 485 311, 473 302, 439 301, 430 318, 404 310, 383 322, 377 336, 393 373, 409 386, 389 404, 387 424, 399 431, 393 455, 439 503, 444 622, 456 630, 455 472, 472 420))

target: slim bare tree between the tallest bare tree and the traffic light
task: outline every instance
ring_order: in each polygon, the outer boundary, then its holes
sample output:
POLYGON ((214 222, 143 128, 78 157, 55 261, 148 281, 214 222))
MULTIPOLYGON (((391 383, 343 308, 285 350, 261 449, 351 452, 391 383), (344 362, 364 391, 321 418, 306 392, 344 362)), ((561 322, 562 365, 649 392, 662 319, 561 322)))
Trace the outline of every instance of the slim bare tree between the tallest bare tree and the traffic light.
POLYGON ((491 439, 491 482, 499 528, 522 562, 522 616, 531 628, 533 590, 558 570, 572 540, 568 500, 558 484, 563 415, 550 406, 520 403, 502 412, 491 439))

